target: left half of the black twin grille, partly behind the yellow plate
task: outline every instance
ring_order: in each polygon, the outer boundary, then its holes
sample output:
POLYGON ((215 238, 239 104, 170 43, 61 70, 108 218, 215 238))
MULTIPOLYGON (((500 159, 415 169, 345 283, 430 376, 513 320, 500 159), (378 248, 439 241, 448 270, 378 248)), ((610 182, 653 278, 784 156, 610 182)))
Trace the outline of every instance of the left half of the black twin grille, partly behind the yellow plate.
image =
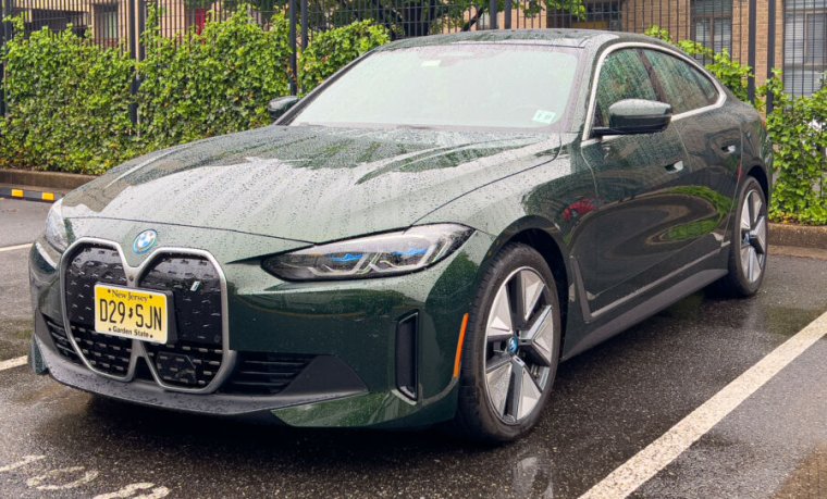
POLYGON ((84 246, 66 266, 66 314, 72 336, 89 364, 114 376, 125 376, 132 357, 132 340, 95 333, 95 285, 126 286, 121 257, 113 248, 84 246))

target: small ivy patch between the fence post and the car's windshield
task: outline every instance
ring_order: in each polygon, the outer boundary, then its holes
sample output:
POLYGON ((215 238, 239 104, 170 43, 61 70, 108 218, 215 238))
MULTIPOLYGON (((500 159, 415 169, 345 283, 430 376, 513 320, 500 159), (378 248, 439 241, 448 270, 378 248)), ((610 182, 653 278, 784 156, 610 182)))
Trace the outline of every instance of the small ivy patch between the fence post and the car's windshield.
POLYGON ((299 58, 299 87, 303 93, 312 90, 350 61, 388 41, 387 29, 371 21, 317 34, 299 58))

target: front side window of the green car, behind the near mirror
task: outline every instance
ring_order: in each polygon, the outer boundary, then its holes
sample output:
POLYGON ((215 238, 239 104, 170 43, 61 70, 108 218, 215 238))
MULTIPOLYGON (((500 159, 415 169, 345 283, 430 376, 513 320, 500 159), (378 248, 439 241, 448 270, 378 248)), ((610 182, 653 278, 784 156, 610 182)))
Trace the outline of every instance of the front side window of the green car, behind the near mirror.
POLYGON ((594 126, 608 126, 608 108, 624 99, 657 100, 652 79, 638 49, 608 54, 597 82, 594 126))

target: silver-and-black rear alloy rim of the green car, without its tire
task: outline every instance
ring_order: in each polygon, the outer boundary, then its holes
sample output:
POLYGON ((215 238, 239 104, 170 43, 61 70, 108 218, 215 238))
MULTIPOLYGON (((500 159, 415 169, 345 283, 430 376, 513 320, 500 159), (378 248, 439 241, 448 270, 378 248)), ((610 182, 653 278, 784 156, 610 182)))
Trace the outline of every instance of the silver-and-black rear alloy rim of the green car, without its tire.
POLYGON ((767 258, 767 215, 761 194, 750 190, 741 207, 741 272, 748 283, 761 278, 767 258))

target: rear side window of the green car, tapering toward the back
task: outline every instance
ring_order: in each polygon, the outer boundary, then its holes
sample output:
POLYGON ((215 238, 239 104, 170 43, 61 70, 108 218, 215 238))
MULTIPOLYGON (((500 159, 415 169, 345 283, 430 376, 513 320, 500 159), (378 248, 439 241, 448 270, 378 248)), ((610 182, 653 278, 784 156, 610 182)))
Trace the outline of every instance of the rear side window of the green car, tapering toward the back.
POLYGON ((661 83, 663 98, 671 104, 672 113, 686 113, 718 100, 715 85, 686 61, 657 50, 644 50, 643 57, 661 83))

